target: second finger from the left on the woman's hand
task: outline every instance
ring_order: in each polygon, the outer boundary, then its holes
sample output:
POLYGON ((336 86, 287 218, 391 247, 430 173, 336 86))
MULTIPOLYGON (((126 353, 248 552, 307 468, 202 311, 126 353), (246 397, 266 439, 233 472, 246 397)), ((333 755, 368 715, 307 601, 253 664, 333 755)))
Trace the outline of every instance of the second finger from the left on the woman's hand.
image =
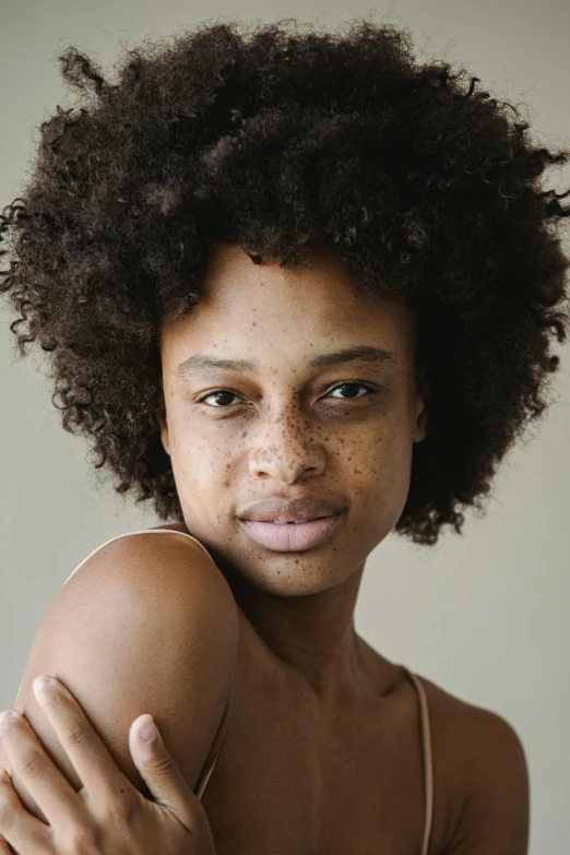
MULTIPOLYGON (((0 738, 12 774, 24 783, 51 827, 57 827, 58 821, 61 824, 62 817, 67 821, 80 816, 84 809, 81 797, 56 767, 35 731, 16 710, 7 712, 11 714, 0 723, 0 738)), ((11 784, 10 789, 17 798, 11 784)), ((25 810, 23 806, 22 809, 25 810)), ((28 816, 32 817, 31 814, 28 816)), ((39 821, 36 817, 33 819, 39 821)))

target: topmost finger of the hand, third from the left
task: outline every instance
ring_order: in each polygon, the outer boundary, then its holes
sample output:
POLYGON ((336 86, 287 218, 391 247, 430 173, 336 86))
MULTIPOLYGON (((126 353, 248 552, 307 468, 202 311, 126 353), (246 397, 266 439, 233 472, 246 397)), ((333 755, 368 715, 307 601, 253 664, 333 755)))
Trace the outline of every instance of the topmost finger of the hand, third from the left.
POLYGON ((37 677, 33 688, 87 794, 116 798, 134 789, 67 686, 55 677, 37 677), (41 679, 48 681, 41 685, 41 679))

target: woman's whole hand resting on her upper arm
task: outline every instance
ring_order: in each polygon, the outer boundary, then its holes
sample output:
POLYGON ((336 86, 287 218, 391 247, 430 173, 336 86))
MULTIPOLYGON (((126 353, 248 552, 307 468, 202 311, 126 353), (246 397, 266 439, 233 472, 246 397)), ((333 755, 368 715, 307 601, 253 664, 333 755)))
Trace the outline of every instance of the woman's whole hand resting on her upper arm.
POLYGON ((155 801, 118 769, 69 689, 51 680, 43 691, 35 680, 34 693, 83 787, 73 789, 23 715, 7 719, 0 724, 5 756, 49 824, 23 807, 4 773, 1 855, 215 855, 205 811, 162 737, 142 738, 152 716, 144 713, 134 720, 129 748, 155 801))

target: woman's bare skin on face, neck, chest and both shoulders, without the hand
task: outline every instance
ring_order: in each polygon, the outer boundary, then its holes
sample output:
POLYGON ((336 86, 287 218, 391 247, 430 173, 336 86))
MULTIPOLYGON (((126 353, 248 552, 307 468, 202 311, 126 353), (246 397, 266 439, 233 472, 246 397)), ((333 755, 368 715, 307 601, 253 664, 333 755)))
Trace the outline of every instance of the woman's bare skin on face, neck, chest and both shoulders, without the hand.
MULTIPOLYGON (((415 332, 402 301, 359 295, 334 256, 285 271, 219 246, 201 302, 163 329, 162 439, 185 522, 157 526, 190 532, 214 561, 187 538, 165 548, 142 534, 105 546, 58 595, 26 668, 24 706, 15 704, 76 791, 81 782, 29 701, 35 676, 55 674, 87 700, 136 787, 126 745, 133 719, 155 715, 194 785, 223 735, 212 746, 230 684, 228 727, 203 796, 217 855, 419 855, 416 690, 354 626, 366 559, 397 522, 413 443, 426 436, 415 332), (355 345, 391 351, 396 368, 307 369, 312 356, 355 345), (259 370, 176 379, 197 353, 256 360, 259 370), (343 396, 341 384, 355 382, 383 389, 343 396), (219 389, 238 397, 195 403, 219 389), (333 498, 348 515, 319 547, 269 550, 236 514, 275 494, 333 498), (72 634, 82 632, 81 655, 66 641, 68 616, 72 634)), ((525 855, 529 782, 514 731, 421 682, 435 774, 429 855, 525 855)), ((39 816, 25 787, 16 792, 39 816)))

